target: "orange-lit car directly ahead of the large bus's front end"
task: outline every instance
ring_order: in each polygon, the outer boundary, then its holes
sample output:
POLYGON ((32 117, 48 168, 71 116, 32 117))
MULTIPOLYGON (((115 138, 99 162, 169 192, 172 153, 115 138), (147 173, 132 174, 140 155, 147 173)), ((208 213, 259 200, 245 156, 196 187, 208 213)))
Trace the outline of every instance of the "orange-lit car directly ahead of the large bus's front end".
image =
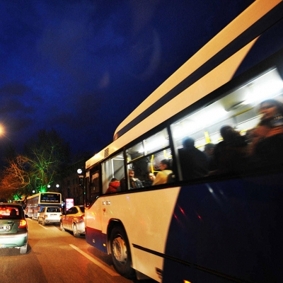
POLYGON ((79 237, 86 233, 84 224, 84 207, 83 205, 74 205, 62 214, 60 221, 61 231, 73 231, 75 237, 79 237))

